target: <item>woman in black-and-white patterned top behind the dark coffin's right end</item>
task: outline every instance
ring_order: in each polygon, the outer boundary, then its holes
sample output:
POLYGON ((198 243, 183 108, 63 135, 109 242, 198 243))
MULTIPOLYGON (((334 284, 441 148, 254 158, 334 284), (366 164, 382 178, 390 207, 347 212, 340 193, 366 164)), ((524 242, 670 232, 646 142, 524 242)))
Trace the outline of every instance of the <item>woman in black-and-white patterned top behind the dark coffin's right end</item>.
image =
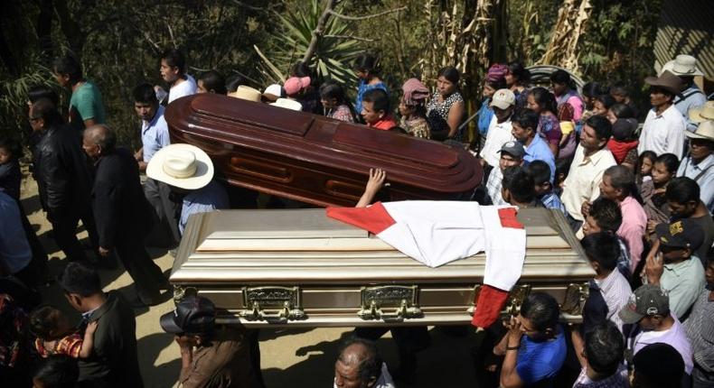
POLYGON ((465 104, 458 91, 460 78, 458 70, 451 66, 438 72, 437 92, 427 104, 427 121, 433 139, 461 141, 458 126, 464 121, 465 104))

